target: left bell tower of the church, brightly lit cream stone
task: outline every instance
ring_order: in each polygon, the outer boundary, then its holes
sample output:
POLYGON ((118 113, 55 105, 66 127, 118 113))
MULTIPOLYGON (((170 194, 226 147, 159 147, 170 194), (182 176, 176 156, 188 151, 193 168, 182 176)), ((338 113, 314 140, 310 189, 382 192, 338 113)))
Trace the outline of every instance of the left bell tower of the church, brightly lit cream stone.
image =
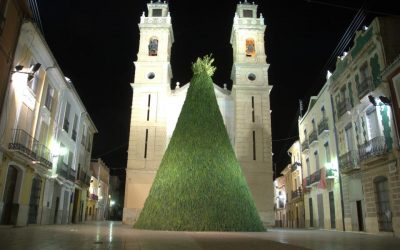
POLYGON ((123 223, 134 224, 160 165, 167 144, 166 114, 170 93, 171 47, 174 42, 168 4, 147 4, 140 17, 135 64, 123 223))

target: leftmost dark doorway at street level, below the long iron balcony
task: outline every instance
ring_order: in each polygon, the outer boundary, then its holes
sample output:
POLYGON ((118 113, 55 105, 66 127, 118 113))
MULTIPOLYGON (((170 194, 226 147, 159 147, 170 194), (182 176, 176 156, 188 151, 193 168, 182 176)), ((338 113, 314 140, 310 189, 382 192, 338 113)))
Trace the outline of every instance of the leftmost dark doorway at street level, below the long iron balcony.
MULTIPOLYGON (((14 166, 8 168, 7 180, 4 189, 4 205, 3 214, 1 216, 1 224, 13 224, 13 201, 15 196, 15 187, 17 185, 18 170, 14 166)), ((16 213, 17 211, 14 211, 16 213)))

